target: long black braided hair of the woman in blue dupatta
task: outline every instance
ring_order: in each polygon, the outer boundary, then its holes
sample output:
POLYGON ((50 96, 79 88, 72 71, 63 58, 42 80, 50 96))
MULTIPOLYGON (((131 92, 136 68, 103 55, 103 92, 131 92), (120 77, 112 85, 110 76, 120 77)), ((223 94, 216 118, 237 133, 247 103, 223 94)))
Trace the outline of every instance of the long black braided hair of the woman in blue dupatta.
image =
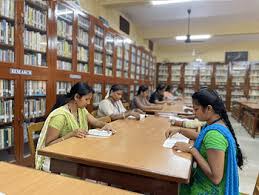
POLYGON ((235 139, 236 147, 237 147, 237 164, 238 164, 239 168, 242 168, 243 163, 244 163, 243 154, 242 154, 240 146, 237 142, 234 129, 229 121, 224 102, 222 101, 222 99, 219 96, 219 94, 217 93, 217 91, 210 90, 208 88, 202 88, 198 92, 195 92, 192 95, 192 99, 204 108, 206 108, 208 105, 211 105, 214 112, 222 118, 225 125, 230 130, 233 138, 235 139))

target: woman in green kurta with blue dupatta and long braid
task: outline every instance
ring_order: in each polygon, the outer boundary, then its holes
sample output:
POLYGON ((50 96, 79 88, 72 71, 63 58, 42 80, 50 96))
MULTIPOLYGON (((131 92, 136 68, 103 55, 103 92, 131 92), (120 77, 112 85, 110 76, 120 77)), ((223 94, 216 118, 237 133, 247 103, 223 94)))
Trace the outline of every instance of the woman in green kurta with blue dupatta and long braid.
POLYGON ((192 95, 195 116, 206 121, 200 133, 171 129, 166 136, 176 132, 195 140, 194 146, 176 143, 175 150, 193 155, 197 167, 192 170, 191 182, 181 185, 182 195, 236 195, 238 171, 243 156, 234 130, 228 119, 224 103, 214 90, 201 89, 192 95))

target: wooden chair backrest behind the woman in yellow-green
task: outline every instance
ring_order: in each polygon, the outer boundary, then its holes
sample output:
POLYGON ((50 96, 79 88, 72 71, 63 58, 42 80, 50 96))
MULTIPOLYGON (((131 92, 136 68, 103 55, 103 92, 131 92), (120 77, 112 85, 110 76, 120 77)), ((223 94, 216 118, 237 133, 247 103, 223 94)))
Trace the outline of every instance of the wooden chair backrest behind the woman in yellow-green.
POLYGON ((34 145, 34 140, 33 140, 33 134, 35 132, 40 132, 42 127, 44 125, 44 122, 38 122, 38 123, 31 123, 29 126, 28 126, 28 143, 29 143, 29 146, 30 146, 30 150, 31 150, 31 155, 34 159, 34 156, 35 156, 35 145, 34 145))

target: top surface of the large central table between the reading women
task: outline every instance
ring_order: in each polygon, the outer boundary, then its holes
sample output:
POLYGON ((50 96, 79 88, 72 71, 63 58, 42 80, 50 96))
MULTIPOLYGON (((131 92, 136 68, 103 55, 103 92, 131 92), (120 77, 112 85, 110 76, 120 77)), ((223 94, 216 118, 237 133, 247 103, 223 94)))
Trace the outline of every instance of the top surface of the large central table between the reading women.
POLYGON ((70 138, 48 146, 39 154, 89 166, 189 182, 192 156, 164 148, 168 119, 149 116, 142 121, 110 123, 117 133, 108 138, 70 138))

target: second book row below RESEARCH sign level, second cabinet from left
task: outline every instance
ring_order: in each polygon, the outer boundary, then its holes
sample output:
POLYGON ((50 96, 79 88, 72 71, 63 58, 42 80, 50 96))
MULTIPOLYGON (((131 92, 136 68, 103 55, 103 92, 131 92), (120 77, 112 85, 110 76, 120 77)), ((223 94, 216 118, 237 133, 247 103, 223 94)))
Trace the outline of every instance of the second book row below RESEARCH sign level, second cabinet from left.
POLYGON ((44 116, 46 113, 46 98, 26 99, 24 101, 24 116, 26 119, 44 116))

